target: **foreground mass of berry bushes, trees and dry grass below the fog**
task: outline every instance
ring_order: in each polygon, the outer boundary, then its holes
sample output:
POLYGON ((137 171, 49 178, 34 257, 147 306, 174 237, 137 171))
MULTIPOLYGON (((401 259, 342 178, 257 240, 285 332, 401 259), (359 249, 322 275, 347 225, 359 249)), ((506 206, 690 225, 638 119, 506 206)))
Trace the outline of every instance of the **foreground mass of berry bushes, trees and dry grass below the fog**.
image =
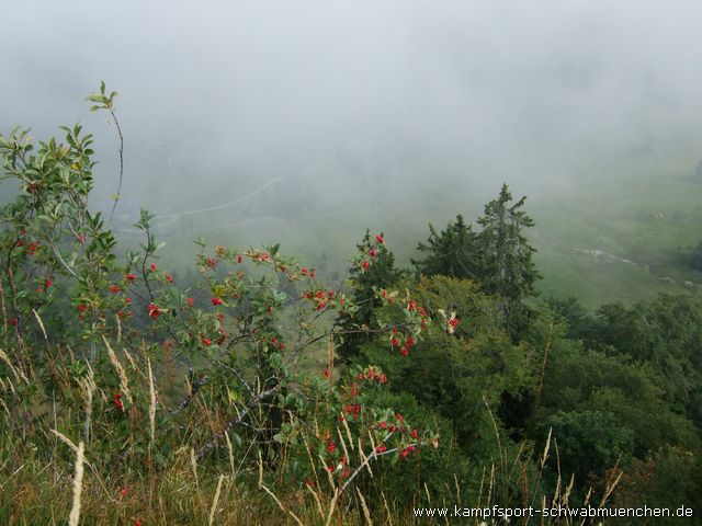
MULTIPOLYGON (((115 95, 90 100, 114 116, 115 95)), ((347 272, 324 262, 336 286, 279 244, 197 240, 176 272, 147 210, 138 248, 89 210, 91 137, 64 132, 0 138, 2 524, 423 524, 414 508, 543 502, 700 524, 694 295, 539 300, 534 220, 507 185, 479 232, 430 225, 416 274, 371 230, 347 272)), ((669 249, 639 241, 619 248, 669 249)))

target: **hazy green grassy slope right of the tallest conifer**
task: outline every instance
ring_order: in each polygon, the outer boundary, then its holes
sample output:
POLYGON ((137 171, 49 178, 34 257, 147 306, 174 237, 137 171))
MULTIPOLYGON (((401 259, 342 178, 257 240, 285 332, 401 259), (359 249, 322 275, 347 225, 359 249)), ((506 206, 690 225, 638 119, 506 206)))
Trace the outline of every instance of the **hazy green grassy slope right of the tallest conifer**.
POLYGON ((686 266, 702 238, 702 184, 636 174, 543 203, 533 216, 545 294, 575 295, 593 308, 658 293, 702 293, 702 275, 686 266))

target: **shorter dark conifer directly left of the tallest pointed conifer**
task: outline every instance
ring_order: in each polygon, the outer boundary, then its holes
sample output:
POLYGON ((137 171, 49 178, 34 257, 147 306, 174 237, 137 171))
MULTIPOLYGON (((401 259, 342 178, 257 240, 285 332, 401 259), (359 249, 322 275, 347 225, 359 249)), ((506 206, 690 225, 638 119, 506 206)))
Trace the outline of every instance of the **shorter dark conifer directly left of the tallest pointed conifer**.
POLYGON ((449 276, 460 279, 475 279, 479 270, 477 235, 472 225, 466 225, 462 215, 455 222, 449 222, 445 230, 437 233, 429 224, 427 243, 420 242, 417 250, 426 258, 410 260, 417 273, 423 276, 449 276))

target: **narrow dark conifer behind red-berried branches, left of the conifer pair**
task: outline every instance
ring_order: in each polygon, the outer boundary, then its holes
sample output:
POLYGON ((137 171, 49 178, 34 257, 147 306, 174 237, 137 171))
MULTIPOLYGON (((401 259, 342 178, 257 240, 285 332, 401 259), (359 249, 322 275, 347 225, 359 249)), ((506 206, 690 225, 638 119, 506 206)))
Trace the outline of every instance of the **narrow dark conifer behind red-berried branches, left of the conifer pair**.
POLYGON ((387 288, 404 277, 404 272, 395 266, 395 255, 387 249, 383 235, 372 237, 366 229, 365 236, 356 249, 364 254, 362 265, 349 268, 351 279, 351 298, 355 312, 341 312, 337 318, 337 327, 347 334, 337 347, 339 356, 349 361, 358 354, 360 345, 370 341, 363 333, 363 327, 370 327, 374 310, 381 306, 374 289, 387 288), (367 265, 365 264, 367 263, 367 265), (353 332, 353 331, 359 332, 353 332))

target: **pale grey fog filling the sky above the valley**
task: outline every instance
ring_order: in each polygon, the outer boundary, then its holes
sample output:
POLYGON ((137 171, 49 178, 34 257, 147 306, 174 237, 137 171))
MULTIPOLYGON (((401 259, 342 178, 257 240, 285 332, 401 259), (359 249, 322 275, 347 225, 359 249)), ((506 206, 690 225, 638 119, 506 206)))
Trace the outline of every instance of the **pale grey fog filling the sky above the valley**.
POLYGON ((387 206, 387 227, 400 228, 404 214, 431 219, 430 198, 452 215, 502 181, 558 196, 625 167, 666 173, 702 157, 699 2, 25 1, 2 12, 0 130, 46 138, 82 122, 100 158, 95 206, 109 209, 116 136, 83 101, 104 79, 120 93, 127 218, 215 207, 189 225, 264 228, 256 217, 346 210, 344 224, 387 206), (251 193, 264 201, 247 208, 251 193))

